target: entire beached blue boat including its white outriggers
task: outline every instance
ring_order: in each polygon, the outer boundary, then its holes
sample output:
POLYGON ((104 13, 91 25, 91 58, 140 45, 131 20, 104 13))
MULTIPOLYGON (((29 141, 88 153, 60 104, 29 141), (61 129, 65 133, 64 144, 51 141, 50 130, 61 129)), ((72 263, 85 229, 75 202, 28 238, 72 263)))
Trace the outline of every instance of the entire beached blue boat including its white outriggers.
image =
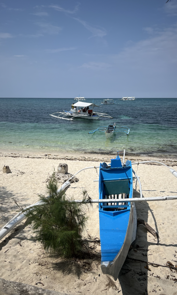
MULTIPOLYGON (((142 197, 141 182, 132 169, 132 165, 143 163, 159 163, 170 169, 170 172, 177 178, 177 171, 159 161, 141 161, 131 163, 127 160, 124 163, 117 153, 116 159, 111 163, 100 163, 100 166, 85 167, 77 171, 71 178, 87 169, 100 168, 99 175, 99 199, 92 199, 92 203, 99 204, 100 218, 100 240, 101 240, 101 269, 104 274, 109 274, 117 280, 119 271, 122 268, 127 256, 129 247, 136 237, 136 202, 143 201, 165 201, 176 200, 177 196, 142 197), (137 178, 140 187, 140 198, 133 198, 133 176, 137 178)), ((70 178, 70 179, 71 179, 70 178)), ((59 190, 64 190, 70 185, 70 179, 66 181, 59 190)), ((82 200, 75 200, 80 203, 82 200)), ((41 201, 33 204, 40 205, 41 201)), ((10 230, 26 218, 26 214, 19 212, 0 230, 0 240, 10 230)))

